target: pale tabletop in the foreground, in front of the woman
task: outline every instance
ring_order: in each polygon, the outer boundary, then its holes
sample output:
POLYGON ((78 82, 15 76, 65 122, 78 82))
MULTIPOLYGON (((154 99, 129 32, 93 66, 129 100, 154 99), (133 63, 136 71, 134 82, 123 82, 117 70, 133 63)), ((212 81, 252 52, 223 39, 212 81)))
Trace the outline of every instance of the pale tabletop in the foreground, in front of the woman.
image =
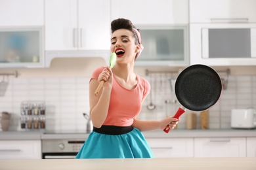
POLYGON ((256 158, 143 158, 83 160, 0 160, 0 169, 175 169, 255 170, 256 158))

